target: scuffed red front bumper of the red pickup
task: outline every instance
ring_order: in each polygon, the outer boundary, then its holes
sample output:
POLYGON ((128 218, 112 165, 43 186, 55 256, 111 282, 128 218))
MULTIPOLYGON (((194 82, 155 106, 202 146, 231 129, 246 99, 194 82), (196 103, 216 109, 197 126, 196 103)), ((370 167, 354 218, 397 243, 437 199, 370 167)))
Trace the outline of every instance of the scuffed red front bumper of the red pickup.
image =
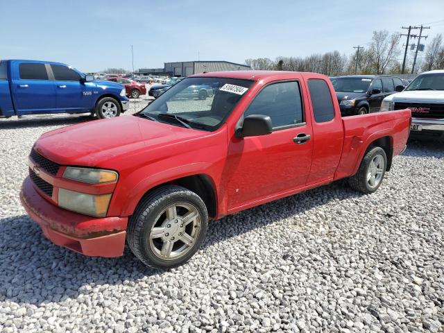
POLYGON ((123 255, 128 218, 94 218, 63 210, 42 198, 29 177, 23 182, 20 200, 53 244, 92 257, 123 255))

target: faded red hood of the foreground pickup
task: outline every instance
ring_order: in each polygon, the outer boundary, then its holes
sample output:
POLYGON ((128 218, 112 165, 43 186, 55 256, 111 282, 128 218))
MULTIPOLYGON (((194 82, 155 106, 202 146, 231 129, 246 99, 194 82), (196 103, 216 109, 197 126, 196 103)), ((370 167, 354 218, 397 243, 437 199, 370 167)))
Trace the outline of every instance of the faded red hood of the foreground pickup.
POLYGON ((35 150, 62 165, 96 167, 99 162, 139 150, 169 146, 208 132, 160 123, 135 116, 79 123, 44 133, 35 150))

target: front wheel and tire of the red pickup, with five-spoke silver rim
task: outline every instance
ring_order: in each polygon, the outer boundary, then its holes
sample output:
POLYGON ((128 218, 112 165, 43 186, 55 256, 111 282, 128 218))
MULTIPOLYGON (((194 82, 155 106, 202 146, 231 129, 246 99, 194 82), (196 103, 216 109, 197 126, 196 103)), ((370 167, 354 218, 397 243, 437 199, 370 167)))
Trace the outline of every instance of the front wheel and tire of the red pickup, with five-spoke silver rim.
POLYGON ((185 264, 196 253, 207 228, 203 200, 184 187, 169 185, 140 201, 128 221, 126 241, 146 266, 168 269, 185 264), (194 219, 187 219, 190 216, 194 219))

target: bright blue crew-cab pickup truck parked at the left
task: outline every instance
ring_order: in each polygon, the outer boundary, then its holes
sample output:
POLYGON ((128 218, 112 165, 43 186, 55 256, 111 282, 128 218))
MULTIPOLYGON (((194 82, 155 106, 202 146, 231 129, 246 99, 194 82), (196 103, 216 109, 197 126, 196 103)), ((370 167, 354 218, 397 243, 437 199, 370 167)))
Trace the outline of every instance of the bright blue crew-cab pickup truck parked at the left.
POLYGON ((0 117, 86 113, 118 117, 128 110, 125 88, 60 62, 0 60, 0 117))

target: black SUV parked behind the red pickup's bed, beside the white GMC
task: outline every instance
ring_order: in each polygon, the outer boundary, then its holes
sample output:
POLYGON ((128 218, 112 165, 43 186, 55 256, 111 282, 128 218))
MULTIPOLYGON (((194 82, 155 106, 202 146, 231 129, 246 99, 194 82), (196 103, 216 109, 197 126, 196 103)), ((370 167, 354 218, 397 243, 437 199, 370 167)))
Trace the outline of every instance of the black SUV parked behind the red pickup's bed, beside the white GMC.
POLYGON ((350 75, 330 78, 343 116, 378 112, 384 97, 402 92, 400 78, 350 75))

